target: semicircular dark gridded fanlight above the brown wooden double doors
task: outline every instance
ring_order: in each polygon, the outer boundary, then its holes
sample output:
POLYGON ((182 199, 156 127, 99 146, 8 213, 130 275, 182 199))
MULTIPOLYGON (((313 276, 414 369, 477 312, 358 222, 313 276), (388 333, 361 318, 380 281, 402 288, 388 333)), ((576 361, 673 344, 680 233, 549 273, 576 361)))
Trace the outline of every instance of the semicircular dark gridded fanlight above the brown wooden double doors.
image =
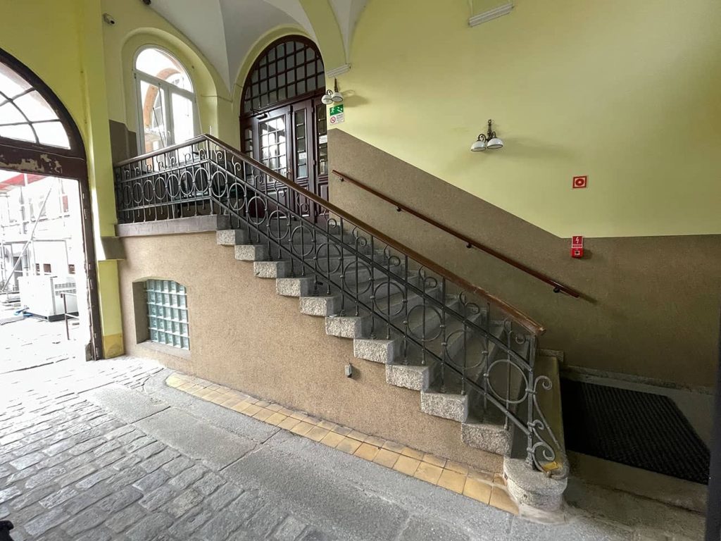
POLYGON ((245 80, 243 112, 265 109, 325 88, 317 47, 304 38, 281 38, 258 57, 245 80))

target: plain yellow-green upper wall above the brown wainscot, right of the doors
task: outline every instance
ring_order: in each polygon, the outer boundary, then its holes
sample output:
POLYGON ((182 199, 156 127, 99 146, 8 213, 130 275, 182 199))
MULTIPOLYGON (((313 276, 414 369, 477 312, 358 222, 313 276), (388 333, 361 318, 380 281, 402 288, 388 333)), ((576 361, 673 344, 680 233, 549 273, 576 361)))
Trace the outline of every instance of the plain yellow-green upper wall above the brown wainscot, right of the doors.
POLYGON ((562 237, 721 233, 721 2, 513 4, 369 1, 341 128, 562 237))

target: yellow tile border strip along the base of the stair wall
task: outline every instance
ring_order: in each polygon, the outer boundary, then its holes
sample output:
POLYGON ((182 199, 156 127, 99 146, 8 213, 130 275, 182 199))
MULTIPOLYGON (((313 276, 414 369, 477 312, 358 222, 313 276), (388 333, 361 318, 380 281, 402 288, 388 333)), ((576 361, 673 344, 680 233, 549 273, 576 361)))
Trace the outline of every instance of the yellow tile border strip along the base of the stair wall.
POLYGON ((328 447, 402 472, 425 483, 463 494, 508 513, 518 514, 518 507, 508 496, 503 475, 474 470, 458 462, 436 457, 395 441, 369 436, 348 426, 251 397, 230 387, 182 372, 173 372, 165 382, 169 387, 216 403, 223 408, 319 441, 328 447))

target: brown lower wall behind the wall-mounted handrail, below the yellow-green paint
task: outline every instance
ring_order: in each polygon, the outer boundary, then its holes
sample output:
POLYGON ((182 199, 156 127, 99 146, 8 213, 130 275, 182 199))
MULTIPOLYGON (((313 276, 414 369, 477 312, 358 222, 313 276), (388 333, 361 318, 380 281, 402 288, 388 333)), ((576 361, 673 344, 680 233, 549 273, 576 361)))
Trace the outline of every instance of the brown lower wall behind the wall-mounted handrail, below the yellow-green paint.
MULTIPOLYGON (((721 236, 570 239, 538 227, 348 135, 329 133, 332 169, 350 175, 585 294, 547 284, 491 258, 331 175, 332 203, 541 322, 541 348, 565 364, 710 387, 721 302, 721 236)), ((539 201, 542 205, 542 201, 539 201)), ((690 210, 689 210, 690 211, 690 210)))

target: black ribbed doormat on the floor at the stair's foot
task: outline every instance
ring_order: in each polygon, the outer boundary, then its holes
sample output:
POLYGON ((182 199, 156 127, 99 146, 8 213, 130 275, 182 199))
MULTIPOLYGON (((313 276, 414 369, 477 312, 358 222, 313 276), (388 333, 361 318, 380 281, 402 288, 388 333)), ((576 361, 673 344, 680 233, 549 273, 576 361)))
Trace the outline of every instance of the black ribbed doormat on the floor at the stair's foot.
POLYGON ((669 397, 563 379, 566 447, 708 484, 709 449, 669 397))

